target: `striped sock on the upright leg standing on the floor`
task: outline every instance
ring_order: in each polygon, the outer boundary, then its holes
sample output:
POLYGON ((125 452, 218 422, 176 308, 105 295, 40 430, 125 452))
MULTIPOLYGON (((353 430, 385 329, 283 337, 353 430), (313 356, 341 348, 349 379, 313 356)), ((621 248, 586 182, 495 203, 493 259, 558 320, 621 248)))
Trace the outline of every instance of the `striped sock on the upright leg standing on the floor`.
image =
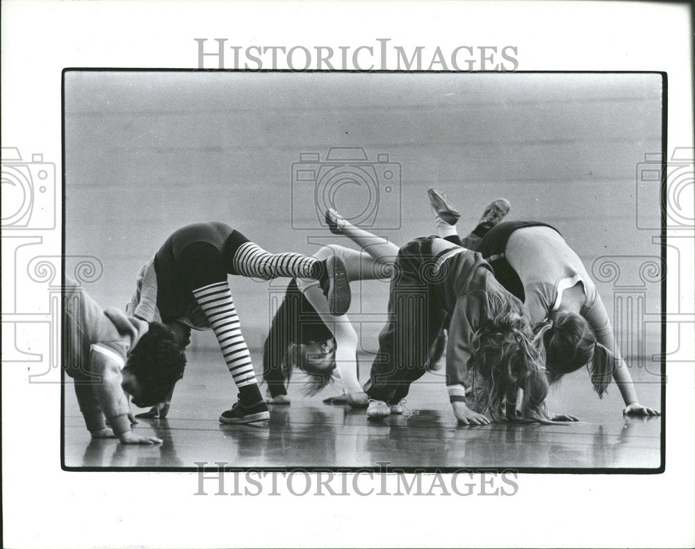
MULTIPOLYGON (((215 336, 217 336, 222 355, 224 355, 224 362, 227 362, 229 373, 231 373, 236 387, 241 393, 242 402, 249 403, 244 396, 246 394, 250 397, 253 393, 252 389, 245 389, 245 387, 255 386, 256 393, 260 397, 256 373, 251 363, 251 355, 246 341, 241 334, 239 316, 236 314, 234 301, 231 299, 229 285, 226 281, 215 282, 215 284, 193 290, 193 296, 210 322, 215 336)), ((252 403, 257 402, 257 400, 257 398, 252 400, 252 403)))

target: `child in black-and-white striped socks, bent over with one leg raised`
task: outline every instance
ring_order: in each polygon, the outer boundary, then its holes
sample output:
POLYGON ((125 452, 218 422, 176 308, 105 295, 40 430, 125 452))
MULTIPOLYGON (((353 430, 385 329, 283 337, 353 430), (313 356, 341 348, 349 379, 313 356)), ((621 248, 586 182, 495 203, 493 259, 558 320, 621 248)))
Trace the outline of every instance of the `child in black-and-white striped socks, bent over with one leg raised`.
MULTIPOLYGON (((227 275, 270 280, 280 276, 317 280, 332 314, 350 306, 350 285, 340 257, 318 260, 297 253, 271 254, 224 223, 194 223, 177 230, 140 271, 128 310, 145 320, 161 318, 182 348, 190 330, 213 330, 239 390, 238 402, 222 412, 222 423, 269 419, 256 383, 249 350, 227 283, 227 275)), ((163 417, 168 402, 147 416, 163 417)))

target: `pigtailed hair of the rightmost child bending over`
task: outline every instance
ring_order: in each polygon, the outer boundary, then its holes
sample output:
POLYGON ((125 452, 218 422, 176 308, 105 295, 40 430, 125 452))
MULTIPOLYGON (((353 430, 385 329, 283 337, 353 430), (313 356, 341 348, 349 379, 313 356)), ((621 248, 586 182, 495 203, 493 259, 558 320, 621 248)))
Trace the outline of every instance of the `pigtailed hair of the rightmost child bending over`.
POLYGON ((587 366, 599 398, 607 392, 616 367, 614 355, 596 341, 596 334, 580 314, 555 311, 536 328, 534 344, 553 384, 566 373, 587 366))

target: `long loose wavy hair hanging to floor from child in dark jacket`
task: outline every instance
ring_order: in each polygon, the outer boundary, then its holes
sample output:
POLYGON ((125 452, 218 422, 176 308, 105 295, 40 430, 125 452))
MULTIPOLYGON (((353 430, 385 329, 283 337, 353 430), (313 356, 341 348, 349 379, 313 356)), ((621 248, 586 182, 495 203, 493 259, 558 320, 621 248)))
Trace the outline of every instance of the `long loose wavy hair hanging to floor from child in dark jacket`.
POLYGON ((470 407, 492 421, 553 423, 544 404, 548 381, 543 360, 521 301, 507 292, 490 292, 487 306, 487 318, 471 340, 470 407), (518 394, 523 394, 521 402, 516 402, 518 394))

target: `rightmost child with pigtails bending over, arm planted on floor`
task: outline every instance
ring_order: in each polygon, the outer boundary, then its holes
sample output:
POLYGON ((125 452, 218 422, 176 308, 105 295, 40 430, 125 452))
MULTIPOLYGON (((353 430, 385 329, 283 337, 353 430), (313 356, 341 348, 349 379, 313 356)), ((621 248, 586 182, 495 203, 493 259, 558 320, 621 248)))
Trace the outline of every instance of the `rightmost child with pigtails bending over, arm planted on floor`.
MULTIPOLYGON (((442 221, 440 234, 458 242, 451 214, 455 210, 438 194, 440 200, 433 205, 442 221)), ((477 251, 491 264, 496 278, 524 301, 551 383, 587 365, 599 396, 614 378, 626 405, 623 414, 660 413, 639 404, 596 286, 557 229, 535 221, 506 221, 475 236, 480 239, 477 251)))

